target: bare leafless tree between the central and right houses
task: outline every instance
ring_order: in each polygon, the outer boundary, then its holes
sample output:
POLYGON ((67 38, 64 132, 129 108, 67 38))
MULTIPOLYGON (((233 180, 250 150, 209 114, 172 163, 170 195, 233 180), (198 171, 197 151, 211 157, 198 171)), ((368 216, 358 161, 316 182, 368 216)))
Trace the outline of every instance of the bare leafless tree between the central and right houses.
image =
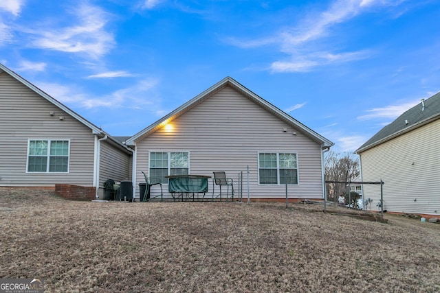
MULTIPOLYGON (((353 181, 359 175, 358 157, 352 153, 327 152, 325 156, 326 181, 353 181)), ((327 200, 336 202, 340 194, 347 193, 347 184, 326 183, 327 200)))

